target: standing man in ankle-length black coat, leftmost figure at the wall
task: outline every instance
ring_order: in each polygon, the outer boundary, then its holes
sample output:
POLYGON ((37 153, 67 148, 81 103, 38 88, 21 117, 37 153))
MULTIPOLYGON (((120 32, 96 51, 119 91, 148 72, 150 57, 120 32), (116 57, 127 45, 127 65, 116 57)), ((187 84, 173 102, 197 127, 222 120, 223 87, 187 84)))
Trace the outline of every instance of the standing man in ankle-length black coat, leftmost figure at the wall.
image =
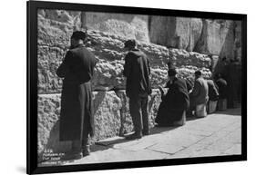
POLYGON ((71 36, 71 48, 56 74, 64 78, 61 95, 59 140, 72 141, 70 159, 89 154, 88 135, 94 135, 90 80, 97 60, 84 45, 86 33, 71 36))

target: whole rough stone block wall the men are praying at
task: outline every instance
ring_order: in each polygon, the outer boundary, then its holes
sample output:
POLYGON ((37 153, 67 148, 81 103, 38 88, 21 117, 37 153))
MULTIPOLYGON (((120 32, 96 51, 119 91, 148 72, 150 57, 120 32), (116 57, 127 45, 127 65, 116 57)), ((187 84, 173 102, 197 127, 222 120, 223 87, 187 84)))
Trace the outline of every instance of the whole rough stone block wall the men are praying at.
MULTIPOLYGON (((224 28, 231 24, 232 22, 227 24, 225 22, 224 28)), ((206 37, 208 43, 205 46, 201 44, 202 33, 207 35, 208 31, 213 31, 210 34, 214 34, 218 32, 219 25, 216 24, 217 28, 209 25, 209 21, 192 18, 169 17, 167 19, 167 17, 145 15, 105 15, 39 10, 38 159, 42 160, 42 152, 46 149, 52 149, 55 152, 70 149, 70 142, 58 141, 62 79, 56 76, 56 69, 67 52, 70 35, 74 30, 87 26, 89 29, 87 48, 98 59, 92 80, 96 120, 96 137, 92 141, 98 141, 123 135, 133 129, 128 112, 128 98, 125 94, 126 82, 122 75, 125 56, 122 49, 124 41, 128 37, 136 38, 138 47, 148 55, 150 82, 153 87, 153 92, 148 99, 148 112, 150 127, 153 127, 160 102, 158 87, 167 83, 167 63, 171 62, 178 67, 179 77, 192 79, 194 71, 201 69, 203 75, 210 78, 213 63, 216 63, 216 58, 218 60, 218 52, 224 54, 230 48, 234 48, 231 42, 221 40, 227 46, 222 50, 216 49, 217 55, 210 57, 209 53, 215 52, 210 47, 214 35, 206 37), (191 52, 195 48, 200 53, 191 52)), ((223 31, 229 33, 230 30, 225 28, 223 31)), ((237 37, 240 34, 241 30, 235 31, 236 48, 241 44, 241 38, 237 37)), ((221 35, 221 38, 225 36, 221 35)), ((218 38, 212 44, 219 44, 220 41, 217 40, 218 38)))

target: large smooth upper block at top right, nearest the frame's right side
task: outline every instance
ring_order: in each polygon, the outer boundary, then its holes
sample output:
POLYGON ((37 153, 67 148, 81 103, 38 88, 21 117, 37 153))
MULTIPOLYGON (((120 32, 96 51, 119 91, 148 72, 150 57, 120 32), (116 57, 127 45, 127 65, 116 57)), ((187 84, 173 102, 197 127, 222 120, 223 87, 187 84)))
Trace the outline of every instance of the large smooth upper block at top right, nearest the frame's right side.
POLYGON ((230 20, 203 20, 203 29, 195 52, 231 58, 234 47, 234 25, 230 20))

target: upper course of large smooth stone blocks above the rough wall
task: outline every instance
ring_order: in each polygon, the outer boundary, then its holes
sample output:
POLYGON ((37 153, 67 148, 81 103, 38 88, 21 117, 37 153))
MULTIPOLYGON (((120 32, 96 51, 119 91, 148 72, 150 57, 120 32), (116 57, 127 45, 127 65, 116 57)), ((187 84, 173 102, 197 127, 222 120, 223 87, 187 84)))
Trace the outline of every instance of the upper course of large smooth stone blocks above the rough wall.
POLYGON ((39 10, 39 15, 108 34, 189 52, 241 57, 241 21, 159 15, 39 10))

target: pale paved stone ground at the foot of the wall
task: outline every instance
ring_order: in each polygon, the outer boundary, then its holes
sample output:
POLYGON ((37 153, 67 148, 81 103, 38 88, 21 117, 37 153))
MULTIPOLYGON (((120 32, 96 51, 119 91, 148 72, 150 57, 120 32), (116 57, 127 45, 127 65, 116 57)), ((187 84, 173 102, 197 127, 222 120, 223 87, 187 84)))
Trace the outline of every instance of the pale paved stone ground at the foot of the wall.
POLYGON ((81 160, 45 162, 44 165, 241 154, 241 109, 188 119, 186 125, 178 128, 153 128, 150 135, 139 140, 116 137, 99 141, 91 150, 91 154, 81 160))

